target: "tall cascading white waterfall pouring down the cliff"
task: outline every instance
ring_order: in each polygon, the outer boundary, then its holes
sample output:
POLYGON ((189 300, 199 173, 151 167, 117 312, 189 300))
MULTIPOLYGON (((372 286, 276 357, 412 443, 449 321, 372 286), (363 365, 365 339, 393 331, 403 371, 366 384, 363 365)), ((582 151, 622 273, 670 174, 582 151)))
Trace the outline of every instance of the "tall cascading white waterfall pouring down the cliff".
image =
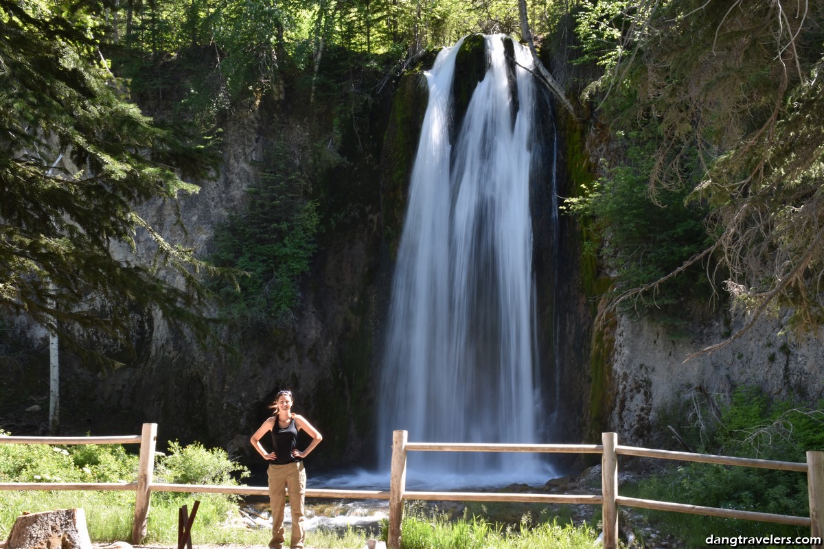
MULTIPOLYGON (((452 79, 463 40, 442 50, 426 73, 428 108, 398 250, 379 396, 384 466, 397 429, 408 430, 412 441, 537 442, 529 200, 536 91, 524 68, 532 66, 531 55, 517 43, 516 85, 508 80, 504 40, 485 38, 488 71, 454 133, 454 147, 452 79)), ((535 454, 412 453, 409 474, 537 472, 545 471, 543 463, 535 454)))

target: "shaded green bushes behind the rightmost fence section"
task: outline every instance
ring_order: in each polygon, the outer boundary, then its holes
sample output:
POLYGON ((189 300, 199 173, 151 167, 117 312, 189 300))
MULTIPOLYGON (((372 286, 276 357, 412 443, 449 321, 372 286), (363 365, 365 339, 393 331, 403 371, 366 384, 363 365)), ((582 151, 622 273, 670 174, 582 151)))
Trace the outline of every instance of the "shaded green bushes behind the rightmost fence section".
MULTIPOLYGON (((695 425, 687 440, 699 441, 701 453, 804 462, 807 450, 824 449, 824 402, 816 407, 791 400, 771 401, 758 388, 737 388, 726 405, 705 402, 695 416, 714 418, 695 425), (702 435, 696 431, 700 430, 702 435)), ((626 495, 761 513, 808 516, 807 478, 798 472, 691 463, 668 468, 626 495)), ((650 520, 686 542, 705 547, 709 533, 719 536, 760 536, 763 523, 648 511, 650 520)), ((808 535, 805 528, 770 524, 775 536, 808 535)))

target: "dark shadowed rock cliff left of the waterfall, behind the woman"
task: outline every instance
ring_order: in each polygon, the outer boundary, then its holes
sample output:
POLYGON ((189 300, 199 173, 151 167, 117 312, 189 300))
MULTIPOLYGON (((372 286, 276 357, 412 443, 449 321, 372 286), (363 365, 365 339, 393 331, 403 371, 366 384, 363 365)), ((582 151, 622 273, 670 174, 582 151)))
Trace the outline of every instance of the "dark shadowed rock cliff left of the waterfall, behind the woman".
MULTIPOLYGON (((379 170, 387 103, 372 105, 368 116, 357 129, 344 128, 343 143, 321 152, 332 160, 311 173, 311 198, 323 208, 325 225, 311 272, 302 278, 302 301, 293 324, 279 329, 218 327, 218 338, 226 347, 204 347, 190 334, 170 328, 157 312, 135 311, 133 353, 93 334, 87 339, 121 361, 122 367, 98 371, 81 358, 62 353, 63 432, 139 433, 143 422, 157 422, 162 440, 223 446, 255 463, 249 436, 270 415, 267 405, 274 393, 290 388, 295 412, 306 415, 325 434, 324 451, 313 456, 316 466, 338 467, 356 460, 368 465, 361 461, 372 454, 364 445, 371 449, 374 357, 391 277, 379 170), (369 134, 358 136, 358 131, 369 134), (363 147, 353 151, 357 147, 350 144, 358 139, 363 147)), ((245 204, 246 189, 260 177, 267 147, 276 138, 287 142, 295 161, 309 170, 310 158, 317 165, 322 137, 318 128, 323 123, 290 115, 285 105, 237 109, 223 127, 219 173, 196 182, 200 192, 178 204, 151 202, 140 213, 167 240, 192 246, 205 256, 216 226, 245 204), (176 225, 175 207, 180 208, 185 230, 176 225)), ((136 235, 136 240, 138 257, 126 247, 116 246, 115 254, 150 262, 150 239, 136 235)), ((174 274, 162 276, 176 282, 174 274)), ((23 319, 8 326, 35 355, 30 355, 25 376, 15 374, 11 361, 0 364, 0 370, 12 368, 4 377, 26 390, 21 402, 15 402, 20 412, 3 412, 16 418, 7 429, 37 430, 38 424, 44 425, 45 412, 40 412, 43 418, 35 418, 34 412, 22 416, 21 411, 32 399, 40 402, 48 394, 49 361, 43 356, 47 337, 23 319)))

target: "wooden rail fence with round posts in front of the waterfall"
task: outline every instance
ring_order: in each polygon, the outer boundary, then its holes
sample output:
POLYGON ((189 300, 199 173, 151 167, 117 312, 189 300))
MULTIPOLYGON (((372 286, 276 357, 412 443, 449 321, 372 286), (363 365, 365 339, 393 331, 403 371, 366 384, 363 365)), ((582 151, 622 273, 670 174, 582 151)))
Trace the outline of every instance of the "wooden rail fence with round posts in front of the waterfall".
MULTIPOLYGON (((679 513, 703 514, 728 519, 756 520, 783 523, 810 528, 813 549, 822 549, 824 537, 824 452, 807 453, 806 463, 781 462, 767 459, 732 458, 711 454, 691 454, 668 450, 636 448, 618 444, 616 433, 603 433, 602 444, 474 444, 409 442, 405 430, 392 434, 392 463, 390 489, 382 490, 333 490, 308 488, 307 497, 354 500, 389 500, 388 547, 400 549, 400 524, 403 521, 404 502, 409 500, 435 501, 517 501, 527 503, 559 503, 602 505, 603 546, 618 547, 618 505, 659 509, 679 513), (602 454, 602 494, 518 494, 489 492, 406 491, 406 454, 410 451, 436 452, 535 452, 555 454, 602 454), (618 493, 618 456, 677 459, 694 463, 769 468, 781 471, 807 473, 810 516, 799 517, 784 514, 757 513, 737 509, 721 509, 700 505, 687 505, 657 500, 642 500, 618 493)), ((152 482, 154 454, 157 445, 157 424, 143 424, 141 435, 133 436, 85 436, 85 437, 38 437, 0 436, 0 444, 140 444, 138 479, 136 482, 7 482, 0 483, 4 490, 77 490, 77 491, 134 491, 133 542, 141 542, 146 536, 146 524, 152 491, 176 491, 190 493, 268 495, 265 486, 212 486, 194 484, 169 484, 152 482)))

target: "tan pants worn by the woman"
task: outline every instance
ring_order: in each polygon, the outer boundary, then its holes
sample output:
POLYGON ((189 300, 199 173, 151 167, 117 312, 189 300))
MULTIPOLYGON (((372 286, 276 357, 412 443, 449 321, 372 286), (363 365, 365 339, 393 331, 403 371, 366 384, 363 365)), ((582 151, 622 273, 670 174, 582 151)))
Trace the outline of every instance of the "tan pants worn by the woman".
POLYGON ((283 512, 286 509, 286 489, 289 489, 289 506, 292 508, 292 539, 289 547, 303 547, 306 533, 303 531, 303 500, 307 490, 307 472, 303 462, 285 465, 269 465, 269 504, 272 506, 272 539, 269 549, 283 547, 283 512))

